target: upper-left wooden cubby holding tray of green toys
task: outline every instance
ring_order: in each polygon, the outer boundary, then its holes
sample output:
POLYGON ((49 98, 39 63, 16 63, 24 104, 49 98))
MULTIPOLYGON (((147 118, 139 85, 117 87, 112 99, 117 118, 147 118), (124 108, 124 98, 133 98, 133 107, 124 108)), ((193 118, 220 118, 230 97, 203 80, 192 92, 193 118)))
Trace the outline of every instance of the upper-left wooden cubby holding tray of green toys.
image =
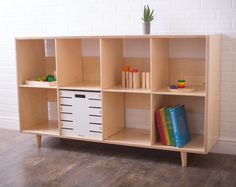
POLYGON ((17 40, 18 85, 26 88, 57 88, 57 86, 26 85, 26 80, 53 75, 56 70, 55 40, 17 40))

